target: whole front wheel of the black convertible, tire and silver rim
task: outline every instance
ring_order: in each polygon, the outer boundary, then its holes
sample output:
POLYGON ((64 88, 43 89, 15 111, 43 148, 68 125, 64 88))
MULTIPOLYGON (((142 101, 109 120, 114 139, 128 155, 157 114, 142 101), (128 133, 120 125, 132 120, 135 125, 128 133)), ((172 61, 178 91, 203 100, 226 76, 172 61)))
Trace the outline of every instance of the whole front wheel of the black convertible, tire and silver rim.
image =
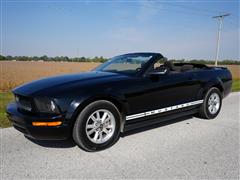
POLYGON ((120 134, 120 113, 109 101, 89 104, 79 114, 73 128, 73 139, 86 151, 99 151, 113 145, 120 134))

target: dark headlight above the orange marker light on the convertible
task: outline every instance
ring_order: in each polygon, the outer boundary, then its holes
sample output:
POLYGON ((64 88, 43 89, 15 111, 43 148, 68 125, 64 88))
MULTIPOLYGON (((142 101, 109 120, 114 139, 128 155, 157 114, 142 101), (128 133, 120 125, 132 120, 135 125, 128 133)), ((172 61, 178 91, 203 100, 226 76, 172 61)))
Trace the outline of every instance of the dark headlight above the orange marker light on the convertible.
POLYGON ((49 98, 41 97, 34 99, 37 111, 43 113, 59 113, 59 109, 55 102, 49 98))

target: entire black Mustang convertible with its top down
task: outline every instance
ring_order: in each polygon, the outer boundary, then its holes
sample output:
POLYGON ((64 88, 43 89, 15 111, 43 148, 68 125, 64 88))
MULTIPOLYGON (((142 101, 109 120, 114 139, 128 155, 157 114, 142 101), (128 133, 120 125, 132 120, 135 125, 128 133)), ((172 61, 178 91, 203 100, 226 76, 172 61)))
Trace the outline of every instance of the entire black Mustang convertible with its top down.
POLYGON ((73 137, 84 150, 98 151, 134 128, 191 114, 215 118, 231 84, 227 68, 132 53, 90 72, 17 87, 7 113, 13 126, 30 138, 73 137))

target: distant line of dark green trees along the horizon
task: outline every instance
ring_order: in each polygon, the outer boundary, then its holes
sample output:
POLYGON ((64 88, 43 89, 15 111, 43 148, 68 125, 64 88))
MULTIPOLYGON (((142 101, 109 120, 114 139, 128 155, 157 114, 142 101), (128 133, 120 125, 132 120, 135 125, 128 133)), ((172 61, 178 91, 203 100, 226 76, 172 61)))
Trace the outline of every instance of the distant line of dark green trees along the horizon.
MULTIPOLYGON (((204 60, 204 59, 170 59, 175 62, 189 62, 189 63, 199 63, 199 64, 214 64, 214 60, 204 60)), ((68 56, 56 56, 56 57, 48 57, 46 55, 44 56, 3 56, 0 55, 0 61, 66 61, 66 62, 100 62, 103 63, 107 61, 107 58, 104 58, 102 56, 98 57, 73 57, 70 58, 68 56)), ((221 60, 218 62, 219 65, 240 65, 240 61, 236 60, 221 60)))

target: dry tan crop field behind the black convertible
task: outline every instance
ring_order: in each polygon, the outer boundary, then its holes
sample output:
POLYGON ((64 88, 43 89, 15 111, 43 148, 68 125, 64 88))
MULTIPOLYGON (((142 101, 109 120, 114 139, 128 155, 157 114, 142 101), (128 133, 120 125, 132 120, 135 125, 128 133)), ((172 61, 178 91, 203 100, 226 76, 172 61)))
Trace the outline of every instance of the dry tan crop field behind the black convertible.
MULTIPOLYGON (((88 71, 100 63, 90 62, 19 62, 0 61, 0 91, 10 89, 39 78, 88 71)), ((234 79, 240 79, 240 66, 227 65, 234 79)))

